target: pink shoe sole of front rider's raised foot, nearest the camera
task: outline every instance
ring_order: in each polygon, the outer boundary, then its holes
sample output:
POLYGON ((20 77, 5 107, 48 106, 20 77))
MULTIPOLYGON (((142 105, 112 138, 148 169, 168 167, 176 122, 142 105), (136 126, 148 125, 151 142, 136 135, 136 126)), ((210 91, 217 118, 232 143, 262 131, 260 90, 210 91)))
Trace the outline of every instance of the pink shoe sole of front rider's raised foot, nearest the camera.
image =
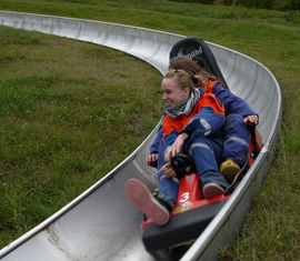
POLYGON ((126 192, 130 201, 158 225, 169 221, 169 211, 150 193, 148 188, 137 179, 126 182, 126 192))

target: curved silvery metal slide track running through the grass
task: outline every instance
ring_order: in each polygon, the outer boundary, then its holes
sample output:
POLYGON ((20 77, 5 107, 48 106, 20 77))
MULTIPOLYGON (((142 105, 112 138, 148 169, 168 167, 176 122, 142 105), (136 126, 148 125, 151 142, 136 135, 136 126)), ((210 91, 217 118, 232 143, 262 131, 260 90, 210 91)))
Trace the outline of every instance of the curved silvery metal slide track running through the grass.
MULTIPOLYGON (((7 11, 0 11, 0 24, 113 48, 151 63, 161 73, 167 71, 171 47, 183 37, 122 24, 7 11)), ((281 93, 272 73, 244 54, 208 44, 231 91, 259 113, 258 130, 264 147, 224 208, 182 260, 214 260, 218 248, 237 233, 271 163, 281 123, 281 93)), ((154 135, 156 129, 103 179, 3 248, 0 258, 30 261, 152 260, 141 242, 139 223, 142 215, 127 200, 123 184, 136 177, 150 189, 157 185, 154 173, 144 162, 154 135)))

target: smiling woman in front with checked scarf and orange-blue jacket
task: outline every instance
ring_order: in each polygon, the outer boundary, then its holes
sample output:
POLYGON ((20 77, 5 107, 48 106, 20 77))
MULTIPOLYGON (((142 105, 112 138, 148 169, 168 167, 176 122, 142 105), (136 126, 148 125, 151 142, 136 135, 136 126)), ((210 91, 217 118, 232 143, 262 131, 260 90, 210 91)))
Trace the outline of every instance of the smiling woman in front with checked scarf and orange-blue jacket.
POLYGON ((168 222, 169 211, 174 208, 178 197, 179 179, 170 164, 170 158, 177 153, 184 152, 191 157, 204 198, 222 194, 228 187, 224 177, 219 173, 224 109, 213 94, 196 88, 193 78, 198 76, 170 70, 161 83, 166 104, 158 151, 157 199, 139 180, 130 179, 126 183, 131 202, 159 225, 168 222))

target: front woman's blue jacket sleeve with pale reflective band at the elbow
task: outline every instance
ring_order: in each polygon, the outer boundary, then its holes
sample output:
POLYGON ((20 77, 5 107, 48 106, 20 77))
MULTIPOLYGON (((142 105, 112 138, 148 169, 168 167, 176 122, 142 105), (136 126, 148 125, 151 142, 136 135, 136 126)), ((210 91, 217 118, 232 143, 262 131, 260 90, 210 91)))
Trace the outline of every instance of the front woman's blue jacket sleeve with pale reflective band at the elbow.
POLYGON ((223 124, 224 116, 222 113, 216 113, 211 107, 204 107, 188 122, 180 133, 186 132, 191 139, 193 137, 219 135, 223 124))

